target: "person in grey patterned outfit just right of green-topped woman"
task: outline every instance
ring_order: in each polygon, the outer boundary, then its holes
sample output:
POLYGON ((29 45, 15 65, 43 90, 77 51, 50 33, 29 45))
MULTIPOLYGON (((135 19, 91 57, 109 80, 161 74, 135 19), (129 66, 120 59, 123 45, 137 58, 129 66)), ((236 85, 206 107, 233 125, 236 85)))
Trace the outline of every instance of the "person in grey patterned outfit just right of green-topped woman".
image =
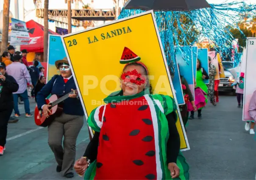
POLYGON ((216 68, 213 64, 211 64, 211 57, 208 56, 209 61, 209 84, 208 87, 208 96, 210 98, 210 102, 212 105, 216 106, 215 100, 214 100, 214 79, 217 74, 216 68))

